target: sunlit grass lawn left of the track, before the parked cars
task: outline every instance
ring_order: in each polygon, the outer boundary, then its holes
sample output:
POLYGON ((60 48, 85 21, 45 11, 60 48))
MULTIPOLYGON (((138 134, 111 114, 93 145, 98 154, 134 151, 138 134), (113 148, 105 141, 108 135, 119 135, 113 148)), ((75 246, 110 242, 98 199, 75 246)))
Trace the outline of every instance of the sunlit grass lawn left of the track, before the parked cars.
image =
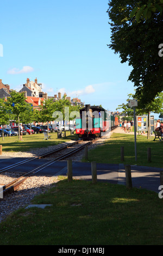
POLYGON ((71 132, 66 132, 66 137, 62 137, 61 139, 57 138, 57 132, 49 133, 51 135, 51 139, 43 140, 43 133, 33 134, 33 135, 24 135, 23 141, 18 141, 18 136, 14 137, 4 137, 4 141, 0 138, 0 144, 2 145, 3 151, 21 151, 26 152, 32 148, 44 148, 52 145, 57 145, 59 143, 63 143, 66 141, 70 141, 71 139, 77 139, 76 135, 71 135, 71 132))

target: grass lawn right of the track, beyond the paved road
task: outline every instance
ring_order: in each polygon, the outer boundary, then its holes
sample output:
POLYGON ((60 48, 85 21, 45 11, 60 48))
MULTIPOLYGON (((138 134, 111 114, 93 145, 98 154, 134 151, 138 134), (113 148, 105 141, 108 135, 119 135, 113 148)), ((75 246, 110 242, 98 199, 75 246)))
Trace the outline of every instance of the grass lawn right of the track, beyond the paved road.
POLYGON ((111 138, 106 140, 104 145, 89 151, 88 161, 96 161, 98 163, 137 164, 139 166, 163 168, 163 143, 153 140, 154 137, 147 139, 147 136, 137 136, 137 162, 135 162, 134 135, 112 133, 111 138), (124 147, 124 162, 121 161, 121 147, 124 147), (147 159, 148 148, 151 148, 151 162, 148 162, 147 159))

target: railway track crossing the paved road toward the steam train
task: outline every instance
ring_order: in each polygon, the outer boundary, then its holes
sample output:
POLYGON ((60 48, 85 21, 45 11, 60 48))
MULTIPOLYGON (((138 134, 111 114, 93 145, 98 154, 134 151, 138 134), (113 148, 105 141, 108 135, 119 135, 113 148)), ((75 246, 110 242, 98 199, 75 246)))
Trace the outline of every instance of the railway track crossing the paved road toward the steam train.
MULTIPOLYGON (((54 159, 52 160, 49 160, 48 162, 46 163, 43 163, 41 164, 40 166, 37 166, 31 170, 29 170, 27 173, 21 175, 20 177, 16 178, 15 180, 12 180, 11 182, 9 182, 8 184, 4 185, 3 186, 3 195, 7 194, 7 193, 11 193, 11 192, 14 192, 17 190, 17 188, 25 181, 27 180, 30 176, 40 172, 42 169, 48 167, 48 166, 51 166, 51 164, 57 162, 57 161, 60 161, 62 159, 66 159, 66 157, 69 157, 73 154, 76 154, 78 153, 78 151, 84 149, 86 146, 90 145, 91 143, 95 142, 97 139, 95 140, 92 140, 90 142, 86 142, 85 144, 82 144, 80 145, 80 147, 77 147, 71 151, 68 151, 68 153, 64 153, 58 157, 55 157, 54 159)), ((66 145, 66 146, 63 146, 59 149, 56 149, 56 150, 52 150, 52 151, 49 151, 48 153, 46 154, 42 154, 40 156, 37 156, 37 157, 34 157, 33 159, 28 159, 28 160, 24 160, 24 161, 21 161, 21 162, 18 162, 16 164, 12 164, 11 166, 8 166, 8 167, 5 167, 3 169, 1 169, 0 173, 3 173, 3 172, 7 172, 8 170, 12 169, 12 168, 15 168, 17 166, 20 166, 21 164, 26 164, 27 162, 29 161, 33 161, 33 160, 36 160, 36 159, 41 159, 43 157, 46 157, 48 155, 51 155, 51 154, 55 154, 61 150, 64 150, 66 148, 69 148, 69 147, 72 147, 73 145, 79 143, 79 142, 82 142, 81 141, 77 141, 77 142, 74 142, 74 143, 71 143, 70 145, 66 145)))

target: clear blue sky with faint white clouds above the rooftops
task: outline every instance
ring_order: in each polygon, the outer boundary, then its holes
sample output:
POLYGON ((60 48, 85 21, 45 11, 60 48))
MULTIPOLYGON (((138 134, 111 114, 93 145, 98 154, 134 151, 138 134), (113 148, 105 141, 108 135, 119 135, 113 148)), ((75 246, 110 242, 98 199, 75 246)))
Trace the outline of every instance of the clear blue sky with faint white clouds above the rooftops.
POLYGON ((27 77, 91 105, 116 111, 134 93, 131 67, 110 44, 108 0, 8 0, 1 3, 0 79, 20 90, 27 77))

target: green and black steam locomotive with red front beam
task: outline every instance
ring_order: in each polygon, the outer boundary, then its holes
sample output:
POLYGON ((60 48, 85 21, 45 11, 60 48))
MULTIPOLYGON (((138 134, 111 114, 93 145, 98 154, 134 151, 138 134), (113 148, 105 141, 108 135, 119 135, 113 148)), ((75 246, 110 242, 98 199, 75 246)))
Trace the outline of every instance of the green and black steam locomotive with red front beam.
POLYGON ((118 126, 118 118, 101 106, 85 105, 76 119, 76 133, 79 138, 101 137, 102 132, 118 126))

